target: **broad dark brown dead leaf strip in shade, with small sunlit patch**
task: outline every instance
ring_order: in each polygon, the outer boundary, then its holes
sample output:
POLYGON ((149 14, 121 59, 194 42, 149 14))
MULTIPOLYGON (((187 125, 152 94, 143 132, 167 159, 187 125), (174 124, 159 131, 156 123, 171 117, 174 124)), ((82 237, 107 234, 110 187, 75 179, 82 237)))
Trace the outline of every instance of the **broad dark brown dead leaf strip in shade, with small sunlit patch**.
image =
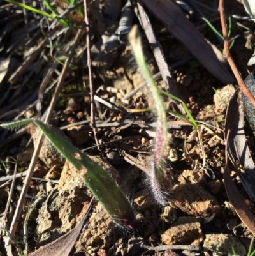
POLYGON ((186 19, 182 10, 171 0, 142 0, 142 3, 165 24, 175 38, 180 40, 200 63, 223 84, 231 84, 234 79, 224 65, 221 52, 210 44, 186 19))

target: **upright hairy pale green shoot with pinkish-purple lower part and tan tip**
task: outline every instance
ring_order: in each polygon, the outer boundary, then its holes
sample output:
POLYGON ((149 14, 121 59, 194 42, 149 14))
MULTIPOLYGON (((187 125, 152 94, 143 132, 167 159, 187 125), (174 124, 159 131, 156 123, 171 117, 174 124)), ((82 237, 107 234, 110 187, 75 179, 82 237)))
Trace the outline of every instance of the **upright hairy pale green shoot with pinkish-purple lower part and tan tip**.
POLYGON ((138 35, 138 27, 133 26, 131 32, 129 33, 129 42, 133 49, 136 62, 141 70, 144 79, 147 81, 149 89, 154 98, 155 107, 157 111, 157 136, 155 142, 155 153, 154 153, 154 163, 152 172, 150 172, 150 186, 154 198, 159 202, 159 204, 166 204, 166 197, 164 190, 168 188, 169 184, 164 174, 163 169, 163 153, 167 142, 167 123, 166 123, 166 112, 164 111, 163 101, 160 97, 157 86, 152 78, 152 75, 145 62, 145 57, 143 55, 141 38, 138 35))

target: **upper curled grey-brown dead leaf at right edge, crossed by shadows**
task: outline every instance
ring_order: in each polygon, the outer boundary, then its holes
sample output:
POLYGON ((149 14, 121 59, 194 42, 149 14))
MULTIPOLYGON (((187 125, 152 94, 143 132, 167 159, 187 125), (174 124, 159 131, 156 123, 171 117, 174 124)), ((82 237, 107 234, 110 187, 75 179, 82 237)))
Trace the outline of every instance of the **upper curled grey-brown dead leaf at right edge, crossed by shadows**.
POLYGON ((224 136, 230 130, 228 141, 228 156, 242 181, 242 184, 252 200, 255 200, 255 165, 244 133, 244 111, 238 107, 238 95, 235 94, 228 105, 224 136), (240 162, 244 172, 240 172, 235 163, 235 158, 240 162))

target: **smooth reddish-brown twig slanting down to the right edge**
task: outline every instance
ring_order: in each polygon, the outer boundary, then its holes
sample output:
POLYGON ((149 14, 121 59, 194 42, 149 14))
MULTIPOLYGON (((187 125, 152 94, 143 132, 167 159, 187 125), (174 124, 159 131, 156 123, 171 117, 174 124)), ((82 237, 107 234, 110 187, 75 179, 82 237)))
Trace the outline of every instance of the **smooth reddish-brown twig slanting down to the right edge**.
POLYGON ((240 76, 240 73, 237 70, 237 66, 235 65, 235 62, 230 54, 230 38, 228 37, 228 32, 226 27, 224 0, 219 1, 219 13, 221 16, 221 27, 222 27, 222 34, 224 37, 224 52, 225 52, 224 55, 226 56, 228 63, 230 64, 231 70, 233 71, 235 78, 237 79, 237 82, 238 82, 238 85, 240 86, 241 91, 244 93, 244 95, 249 99, 249 101, 255 107, 255 98, 247 88, 242 77, 240 76))

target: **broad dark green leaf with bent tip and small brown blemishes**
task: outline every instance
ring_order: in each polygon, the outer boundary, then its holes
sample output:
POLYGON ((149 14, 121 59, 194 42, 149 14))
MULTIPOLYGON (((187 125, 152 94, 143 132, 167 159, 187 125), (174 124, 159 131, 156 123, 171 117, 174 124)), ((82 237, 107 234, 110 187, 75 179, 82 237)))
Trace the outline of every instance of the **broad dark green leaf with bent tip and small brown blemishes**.
POLYGON ((134 213, 128 199, 120 190, 115 180, 100 166, 77 149, 68 141, 62 139, 46 124, 39 120, 24 119, 13 123, 1 124, 3 128, 14 128, 33 122, 40 128, 52 145, 68 160, 77 170, 84 175, 84 181, 101 202, 111 218, 124 227, 133 228, 134 213))

